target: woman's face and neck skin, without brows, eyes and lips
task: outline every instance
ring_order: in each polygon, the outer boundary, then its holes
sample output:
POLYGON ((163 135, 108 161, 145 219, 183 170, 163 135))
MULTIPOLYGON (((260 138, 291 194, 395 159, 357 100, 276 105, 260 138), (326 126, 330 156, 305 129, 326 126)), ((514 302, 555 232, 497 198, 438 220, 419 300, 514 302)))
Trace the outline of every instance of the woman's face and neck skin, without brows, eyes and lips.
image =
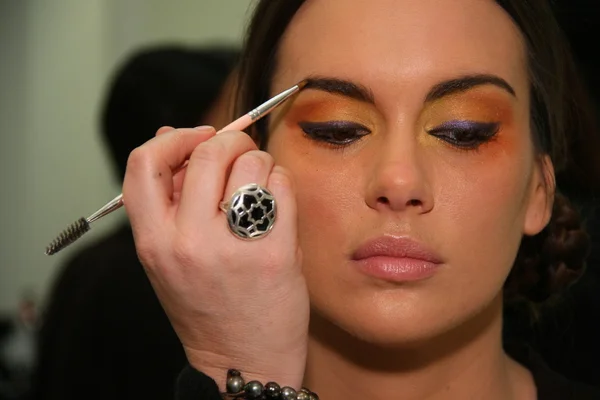
POLYGON ((509 16, 491 1, 400 3, 308 2, 288 27, 273 81, 277 92, 316 74, 358 83, 375 97, 370 105, 309 89, 273 119, 268 145, 302 188, 300 243, 310 249, 303 271, 319 315, 307 383, 332 396, 350 398, 346 379, 369 382, 368 398, 376 398, 373 386, 393 394, 400 381, 379 377, 373 370, 382 366, 428 387, 412 393, 421 399, 454 389, 447 382, 467 378, 469 368, 510 379, 501 371, 502 286, 522 235, 538 233, 549 218, 530 134, 524 46, 509 16), (340 43, 352 43, 352 51, 340 43), (440 81, 479 73, 503 78, 516 96, 485 85, 424 101, 440 81), (427 133, 456 119, 499 122, 500 130, 476 150, 427 133), (371 134, 333 150, 298 127, 329 120, 358 122, 371 134), (444 263, 423 282, 373 281, 350 259, 381 235, 426 243, 444 263), (401 361, 391 367, 389 355, 401 361), (439 363, 440 355, 448 359, 439 363), (369 379, 361 379, 365 373, 369 379))

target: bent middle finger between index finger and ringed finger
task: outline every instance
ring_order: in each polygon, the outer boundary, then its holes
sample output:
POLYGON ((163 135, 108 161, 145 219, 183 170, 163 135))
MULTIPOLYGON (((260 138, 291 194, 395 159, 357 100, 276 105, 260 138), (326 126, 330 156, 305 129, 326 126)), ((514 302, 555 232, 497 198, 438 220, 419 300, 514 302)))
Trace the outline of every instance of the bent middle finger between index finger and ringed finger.
POLYGON ((242 154, 258 150, 244 132, 222 132, 200 144, 191 154, 181 191, 178 224, 184 229, 206 229, 223 197, 228 171, 242 154))

